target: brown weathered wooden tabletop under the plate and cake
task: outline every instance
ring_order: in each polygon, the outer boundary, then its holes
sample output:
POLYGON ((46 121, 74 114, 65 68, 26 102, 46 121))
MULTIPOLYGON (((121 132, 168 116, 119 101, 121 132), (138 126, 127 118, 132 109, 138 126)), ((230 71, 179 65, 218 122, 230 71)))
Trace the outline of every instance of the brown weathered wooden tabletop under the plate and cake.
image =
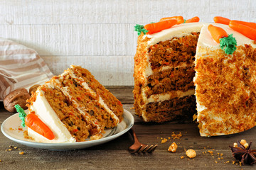
MULTIPOLYGON (((129 133, 103 145, 68 151, 26 147, 0 133, 0 169, 256 169, 256 165, 240 166, 233 162, 235 159, 228 147, 245 139, 254 142, 252 149, 256 149, 256 128, 235 135, 200 137, 196 123, 147 124, 134 114, 132 87, 108 89, 122 101, 124 109, 134 115, 133 128, 139 141, 159 145, 153 153, 129 154, 127 148, 133 143, 129 133), (179 140, 169 139, 172 132, 181 132, 183 136, 179 140), (161 143, 164 138, 167 142, 161 143), (178 145, 176 153, 167 151, 172 142, 178 145), (17 149, 9 151, 10 146, 17 149), (188 159, 185 149, 194 149, 197 156, 188 159), (19 154, 20 151, 24 154, 19 154)), ((7 112, 0 102, 0 123, 10 115, 13 113, 7 112)))

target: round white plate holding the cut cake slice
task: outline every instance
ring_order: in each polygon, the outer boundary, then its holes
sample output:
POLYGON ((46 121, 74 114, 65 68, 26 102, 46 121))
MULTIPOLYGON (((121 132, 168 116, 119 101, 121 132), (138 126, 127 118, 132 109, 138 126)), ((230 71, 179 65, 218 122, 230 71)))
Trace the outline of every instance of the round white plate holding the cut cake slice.
POLYGON ((41 143, 33 142, 24 138, 23 132, 27 128, 21 126, 21 120, 18 118, 18 113, 11 115, 9 118, 4 120, 4 123, 1 125, 1 131, 3 134, 14 142, 18 142, 21 145, 26 145, 28 147, 36 147, 40 149, 51 149, 51 150, 68 150, 68 149, 84 149, 87 147, 92 147, 95 145, 101 145, 110 140, 123 135, 134 125, 134 117, 129 111, 124 110, 124 120, 117 125, 116 128, 105 130, 106 133, 100 140, 89 140, 85 142, 74 142, 74 143, 41 143), (22 130, 20 129, 22 128, 22 130))

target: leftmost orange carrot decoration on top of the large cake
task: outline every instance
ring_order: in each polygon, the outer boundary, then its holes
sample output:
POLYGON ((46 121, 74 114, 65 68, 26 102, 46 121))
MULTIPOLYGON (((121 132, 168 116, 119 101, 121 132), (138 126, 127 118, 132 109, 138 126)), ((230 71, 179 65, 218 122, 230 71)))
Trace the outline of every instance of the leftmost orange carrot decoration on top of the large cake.
POLYGON ((161 22, 158 22, 158 23, 146 24, 146 26, 144 26, 144 28, 146 30, 149 30, 149 32, 147 32, 146 34, 153 34, 153 33, 159 32, 161 30, 171 28, 176 23, 177 23, 176 20, 166 20, 166 21, 161 21, 161 22))

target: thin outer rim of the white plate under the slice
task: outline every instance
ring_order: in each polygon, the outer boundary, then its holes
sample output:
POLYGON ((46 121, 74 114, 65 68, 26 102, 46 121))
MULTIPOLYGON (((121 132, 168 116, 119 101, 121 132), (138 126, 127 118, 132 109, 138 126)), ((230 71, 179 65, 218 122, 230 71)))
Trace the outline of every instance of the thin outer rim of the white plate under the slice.
MULTIPOLYGON (((14 115, 11 115, 11 116, 9 116, 9 118, 11 118, 13 116, 16 116, 17 114, 18 113, 14 114, 14 115)), ((125 122, 127 127, 124 130, 122 130, 121 132, 118 132, 117 134, 110 135, 108 137, 103 137, 99 140, 90 140, 90 141, 85 141, 85 142, 46 143, 46 142, 32 142, 32 141, 16 139, 15 137, 12 137, 12 136, 8 135, 4 130, 4 125, 8 121, 9 118, 6 118, 6 120, 4 120, 4 122, 1 124, 1 132, 4 134, 5 137, 9 138, 9 140, 17 142, 21 145, 26 145, 28 147, 38 146, 36 148, 48 149, 47 147, 61 148, 61 147, 75 147, 75 146, 77 146, 79 149, 83 149, 83 148, 92 147, 92 146, 95 146, 95 145, 101 145, 105 142, 109 142, 110 140, 114 140, 115 138, 117 138, 121 135, 124 135, 124 133, 126 133, 134 125, 134 116, 132 115, 132 113, 130 113, 126 109, 124 109, 123 116, 125 116, 128 120, 128 122, 125 122), (83 145, 85 145, 85 147, 82 147, 83 145), (87 146, 87 145, 90 145, 90 146, 87 146)), ((122 121, 124 121, 124 119, 122 121)), ((58 149, 58 150, 62 150, 62 149, 58 149)), ((67 149, 63 149, 63 150, 67 150, 67 149)))

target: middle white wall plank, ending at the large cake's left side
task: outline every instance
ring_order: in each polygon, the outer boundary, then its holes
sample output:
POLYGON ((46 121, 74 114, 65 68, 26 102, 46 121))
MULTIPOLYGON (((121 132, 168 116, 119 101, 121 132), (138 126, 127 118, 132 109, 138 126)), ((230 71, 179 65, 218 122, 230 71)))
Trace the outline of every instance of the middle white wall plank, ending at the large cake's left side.
POLYGON ((134 55, 134 23, 0 25, 1 38, 31 47, 39 55, 134 55))

